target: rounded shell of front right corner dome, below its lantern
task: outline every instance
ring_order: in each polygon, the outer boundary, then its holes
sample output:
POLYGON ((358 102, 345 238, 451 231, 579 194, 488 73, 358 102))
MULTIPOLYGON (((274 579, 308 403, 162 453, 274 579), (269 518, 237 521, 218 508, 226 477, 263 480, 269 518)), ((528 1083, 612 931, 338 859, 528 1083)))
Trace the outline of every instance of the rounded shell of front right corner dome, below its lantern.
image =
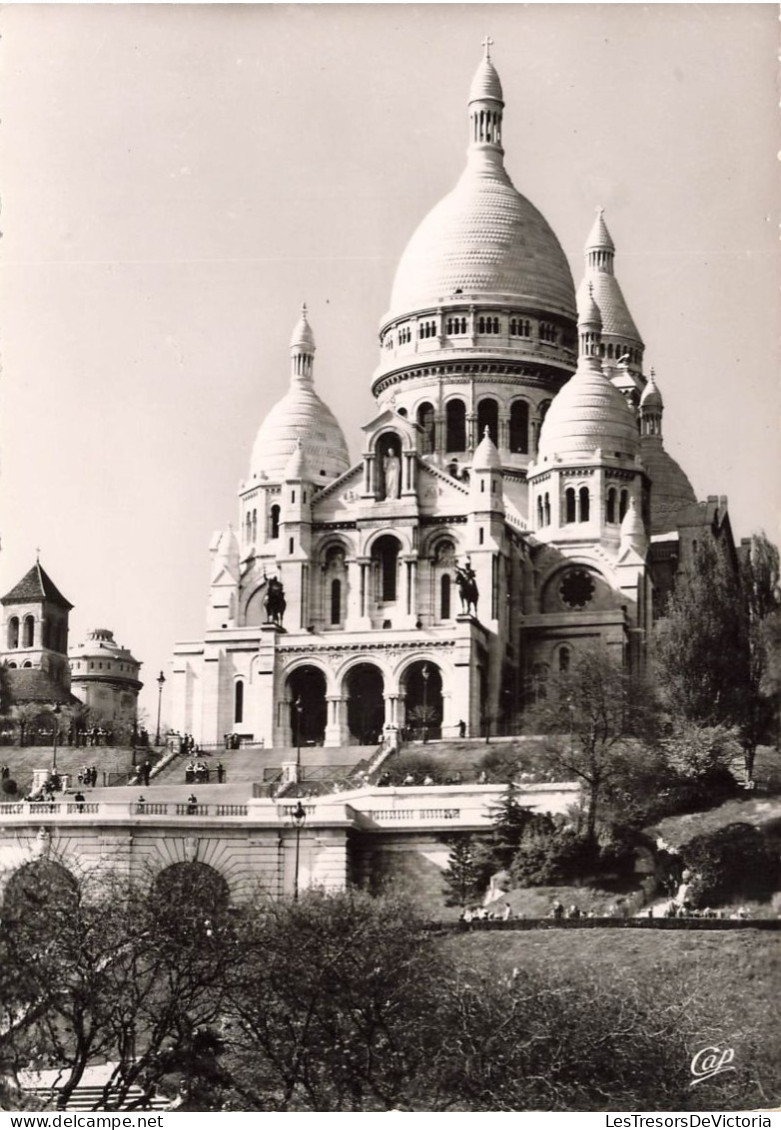
POLYGON ((574 376, 554 398, 539 436, 538 461, 635 455, 640 436, 634 412, 605 376, 596 358, 581 358, 574 376))

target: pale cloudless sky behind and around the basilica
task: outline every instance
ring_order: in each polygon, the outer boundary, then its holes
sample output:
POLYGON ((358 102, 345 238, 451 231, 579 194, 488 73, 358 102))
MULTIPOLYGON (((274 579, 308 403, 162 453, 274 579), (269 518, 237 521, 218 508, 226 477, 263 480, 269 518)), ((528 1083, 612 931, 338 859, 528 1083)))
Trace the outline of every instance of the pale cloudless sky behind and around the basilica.
MULTIPOLYGON (((778 540, 775 5, 11 6, 0 585, 35 560, 142 702, 203 629, 302 301, 353 458, 399 257, 463 166, 489 33, 506 164, 575 282, 597 205, 668 450, 778 540)), ((165 714, 164 699, 164 714, 165 714)))

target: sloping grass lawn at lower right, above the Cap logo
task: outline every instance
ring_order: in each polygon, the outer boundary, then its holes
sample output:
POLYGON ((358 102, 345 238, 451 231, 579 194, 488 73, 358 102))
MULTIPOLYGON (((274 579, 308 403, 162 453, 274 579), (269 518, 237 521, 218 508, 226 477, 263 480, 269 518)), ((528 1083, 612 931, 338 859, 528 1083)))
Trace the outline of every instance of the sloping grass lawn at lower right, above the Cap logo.
MULTIPOLYGON (((593 929, 452 935, 440 942, 459 965, 502 976, 513 968, 567 981, 589 979, 621 992, 641 983, 676 986, 702 1016, 702 1043, 729 1034, 737 1067, 750 1072, 746 1094, 761 1107, 781 1105, 781 938, 723 933, 593 929), (774 1003, 775 1002, 775 1003, 774 1003)), ((692 1048, 692 1054, 698 1051, 692 1048)))

